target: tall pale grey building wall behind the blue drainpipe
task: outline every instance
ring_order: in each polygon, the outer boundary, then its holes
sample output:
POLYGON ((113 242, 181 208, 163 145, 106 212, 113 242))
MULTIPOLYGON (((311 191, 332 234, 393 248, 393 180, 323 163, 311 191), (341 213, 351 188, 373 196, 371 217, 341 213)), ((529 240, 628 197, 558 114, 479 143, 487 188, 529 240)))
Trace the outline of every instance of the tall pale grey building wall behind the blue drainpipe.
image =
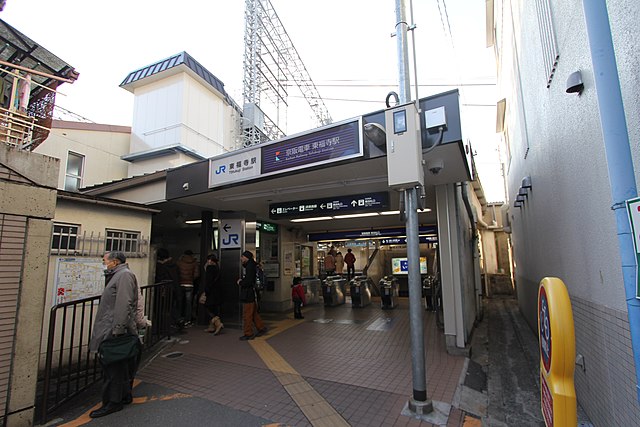
MULTIPOLYGON (((537 290, 561 278, 575 311, 578 400, 595 425, 631 425, 640 416, 635 366, 593 66, 582 3, 551 2, 559 62, 546 87, 536 2, 496 2, 499 86, 506 99, 504 158, 522 312, 536 328, 537 290), (580 70, 581 95, 565 92, 580 70), (533 188, 522 209, 522 178, 533 188), (591 366, 591 368, 589 368, 591 366)), ((635 170, 640 170, 638 2, 607 2, 635 170)), ((636 172, 636 181, 638 173, 636 172)))

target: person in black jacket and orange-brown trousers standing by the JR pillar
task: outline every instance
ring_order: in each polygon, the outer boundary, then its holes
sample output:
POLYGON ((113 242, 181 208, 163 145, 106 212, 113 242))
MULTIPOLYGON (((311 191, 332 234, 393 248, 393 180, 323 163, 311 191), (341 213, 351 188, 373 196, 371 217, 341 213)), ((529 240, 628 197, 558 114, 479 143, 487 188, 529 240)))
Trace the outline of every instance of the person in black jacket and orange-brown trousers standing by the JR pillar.
POLYGON ((244 251, 240 256, 242 266, 244 267, 244 276, 238 279, 238 286, 240 286, 240 302, 242 302, 242 323, 244 334, 240 337, 241 340, 252 340, 256 336, 264 335, 267 332, 267 328, 262 322, 260 314, 258 314, 258 307, 256 306, 256 262, 253 260, 253 254, 249 251, 244 251), (257 333, 253 333, 253 325, 256 325, 257 333))

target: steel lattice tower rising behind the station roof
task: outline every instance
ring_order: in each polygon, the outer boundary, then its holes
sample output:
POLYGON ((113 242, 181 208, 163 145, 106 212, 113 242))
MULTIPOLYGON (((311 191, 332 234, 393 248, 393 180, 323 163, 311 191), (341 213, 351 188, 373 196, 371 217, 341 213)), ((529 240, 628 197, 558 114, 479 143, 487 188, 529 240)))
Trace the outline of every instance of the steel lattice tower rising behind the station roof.
POLYGON ((331 116, 269 0, 246 0, 243 146, 285 136, 288 88, 296 85, 318 126, 331 116))

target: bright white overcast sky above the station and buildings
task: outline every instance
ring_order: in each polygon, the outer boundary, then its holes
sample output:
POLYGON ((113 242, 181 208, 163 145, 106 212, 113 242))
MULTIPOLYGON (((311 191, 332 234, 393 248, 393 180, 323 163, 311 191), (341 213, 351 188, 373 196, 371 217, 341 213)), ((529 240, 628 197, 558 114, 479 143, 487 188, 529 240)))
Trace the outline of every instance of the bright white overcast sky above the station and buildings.
MULTIPOLYGON (((333 121, 385 108, 398 92, 395 0, 271 0, 333 121)), ((504 200, 495 134, 495 59, 485 46, 484 0, 416 0, 418 96, 461 90, 463 135, 477 153, 488 201, 504 200)), ((131 71, 186 51, 242 99, 242 0, 7 0, 0 18, 80 73, 56 104, 90 121, 131 125, 131 71)), ((412 37, 409 37, 410 56, 412 37)), ((412 60, 412 59, 411 59, 412 60)), ((410 65, 415 98, 413 62, 410 65)), ((289 134, 315 127, 290 91, 289 134)), ((70 119, 67 117, 66 119, 70 119)))

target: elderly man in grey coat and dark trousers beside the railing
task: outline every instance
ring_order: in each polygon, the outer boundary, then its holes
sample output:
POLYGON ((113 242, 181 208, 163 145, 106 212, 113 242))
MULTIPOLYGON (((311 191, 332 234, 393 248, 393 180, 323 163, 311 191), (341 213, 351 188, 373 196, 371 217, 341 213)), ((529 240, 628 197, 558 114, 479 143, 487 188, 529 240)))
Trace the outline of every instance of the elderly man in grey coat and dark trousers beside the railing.
MULTIPOLYGON (((127 257, 120 251, 104 254, 106 286, 102 292, 100 306, 93 326, 89 350, 97 352, 100 344, 112 337, 137 334, 136 307, 138 303, 138 281, 129 270, 127 257)), ((122 405, 131 403, 131 383, 137 366, 136 360, 124 360, 106 365, 102 363, 102 407, 89 414, 91 418, 103 417, 122 410, 122 405)))

